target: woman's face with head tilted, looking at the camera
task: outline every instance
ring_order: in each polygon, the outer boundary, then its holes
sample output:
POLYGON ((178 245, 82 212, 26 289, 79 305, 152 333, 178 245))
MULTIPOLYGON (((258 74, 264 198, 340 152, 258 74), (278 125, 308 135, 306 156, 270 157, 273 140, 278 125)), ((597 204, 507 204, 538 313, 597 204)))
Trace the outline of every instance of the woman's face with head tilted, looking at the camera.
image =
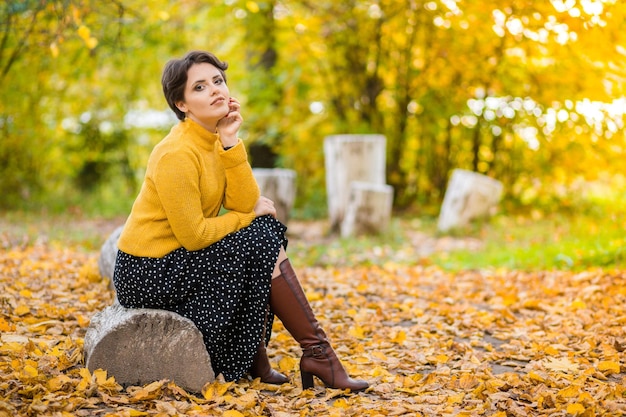
POLYGON ((176 106, 187 117, 215 132, 217 122, 229 112, 230 92, 220 70, 208 63, 193 64, 187 71, 185 100, 176 106))

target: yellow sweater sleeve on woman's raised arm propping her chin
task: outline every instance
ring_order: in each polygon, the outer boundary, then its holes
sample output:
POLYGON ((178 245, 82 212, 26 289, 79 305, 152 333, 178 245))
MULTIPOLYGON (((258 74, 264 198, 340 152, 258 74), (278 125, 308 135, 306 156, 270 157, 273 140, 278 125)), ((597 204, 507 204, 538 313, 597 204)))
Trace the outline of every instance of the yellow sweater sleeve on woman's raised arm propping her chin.
POLYGON ((228 151, 218 151, 226 173, 224 208, 242 213, 250 213, 259 199, 259 186, 248 162, 246 147, 241 139, 228 151))

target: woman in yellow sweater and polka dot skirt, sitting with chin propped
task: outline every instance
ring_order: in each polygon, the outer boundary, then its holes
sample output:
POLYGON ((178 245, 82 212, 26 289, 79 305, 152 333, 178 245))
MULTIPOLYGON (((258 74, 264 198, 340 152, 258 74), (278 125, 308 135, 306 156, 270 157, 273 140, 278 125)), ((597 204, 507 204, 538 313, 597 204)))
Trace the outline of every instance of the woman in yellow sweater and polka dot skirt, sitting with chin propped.
POLYGON ((283 384, 269 364, 274 315, 302 348, 303 389, 362 391, 315 319, 285 253, 286 227, 260 195, 238 138, 240 104, 227 64, 194 51, 167 63, 163 93, 180 122, 155 146, 119 239, 113 281, 124 307, 191 319, 216 374, 283 384))

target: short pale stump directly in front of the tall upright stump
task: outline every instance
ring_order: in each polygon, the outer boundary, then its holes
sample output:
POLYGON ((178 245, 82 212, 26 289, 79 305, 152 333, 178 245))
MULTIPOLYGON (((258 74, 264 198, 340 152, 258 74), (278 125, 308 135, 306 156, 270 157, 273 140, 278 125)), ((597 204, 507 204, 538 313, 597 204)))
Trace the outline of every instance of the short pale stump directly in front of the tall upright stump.
POLYGON ((393 187, 353 181, 341 222, 341 236, 378 234, 387 230, 393 206, 393 187))

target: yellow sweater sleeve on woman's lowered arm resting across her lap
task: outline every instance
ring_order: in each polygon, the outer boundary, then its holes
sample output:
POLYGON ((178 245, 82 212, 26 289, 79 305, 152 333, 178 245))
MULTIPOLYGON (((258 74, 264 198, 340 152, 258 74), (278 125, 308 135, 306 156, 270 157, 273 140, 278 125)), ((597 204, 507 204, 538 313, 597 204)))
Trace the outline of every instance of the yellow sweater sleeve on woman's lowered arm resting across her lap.
POLYGON ((176 152, 162 155, 154 175, 154 186, 172 233, 189 251, 205 248, 252 221, 249 213, 236 211, 205 217, 199 172, 200 162, 193 154, 176 152))

